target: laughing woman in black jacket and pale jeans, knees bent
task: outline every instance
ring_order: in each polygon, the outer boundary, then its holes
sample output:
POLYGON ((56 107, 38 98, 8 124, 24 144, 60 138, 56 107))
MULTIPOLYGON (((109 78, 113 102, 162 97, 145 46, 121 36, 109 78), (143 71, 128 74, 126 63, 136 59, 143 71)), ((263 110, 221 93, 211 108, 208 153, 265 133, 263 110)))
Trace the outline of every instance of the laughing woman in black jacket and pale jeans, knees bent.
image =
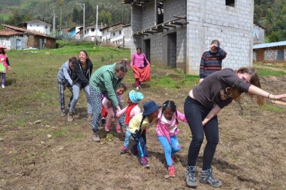
POLYGON ((80 50, 78 52, 78 60, 74 65, 74 71, 72 74, 73 79, 73 100, 71 102, 70 112, 68 116, 68 121, 72 122, 74 117, 75 106, 79 97, 79 92, 81 89, 84 90, 87 99, 87 114, 88 120, 92 120, 92 104, 90 97, 90 77, 92 75, 93 63, 89 59, 87 52, 85 50, 80 50))

